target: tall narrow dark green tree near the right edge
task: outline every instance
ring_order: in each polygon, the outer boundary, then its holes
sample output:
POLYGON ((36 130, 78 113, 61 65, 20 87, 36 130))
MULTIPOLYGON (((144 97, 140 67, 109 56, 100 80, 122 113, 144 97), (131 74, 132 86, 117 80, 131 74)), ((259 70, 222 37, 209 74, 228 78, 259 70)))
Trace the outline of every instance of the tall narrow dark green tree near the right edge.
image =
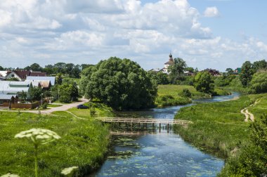
POLYGON ((252 75, 254 74, 254 69, 252 67, 252 63, 249 61, 246 61, 243 63, 240 73, 240 81, 242 82, 242 85, 248 86, 249 81, 252 80, 252 75))

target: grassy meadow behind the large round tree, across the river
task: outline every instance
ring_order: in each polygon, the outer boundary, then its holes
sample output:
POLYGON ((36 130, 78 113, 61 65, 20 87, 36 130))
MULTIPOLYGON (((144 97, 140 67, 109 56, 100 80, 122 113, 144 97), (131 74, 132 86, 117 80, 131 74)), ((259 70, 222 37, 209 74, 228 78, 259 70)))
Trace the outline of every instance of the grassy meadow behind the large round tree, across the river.
MULTIPOLYGON (((194 99, 211 98, 207 93, 197 91, 193 86, 181 86, 181 85, 159 85, 157 91, 157 98, 155 104, 157 107, 165 107, 172 105, 186 105, 192 103, 194 99), (183 96, 183 89, 188 89, 191 96, 183 96)), ((215 89, 215 96, 229 95, 229 91, 223 89, 215 89)))

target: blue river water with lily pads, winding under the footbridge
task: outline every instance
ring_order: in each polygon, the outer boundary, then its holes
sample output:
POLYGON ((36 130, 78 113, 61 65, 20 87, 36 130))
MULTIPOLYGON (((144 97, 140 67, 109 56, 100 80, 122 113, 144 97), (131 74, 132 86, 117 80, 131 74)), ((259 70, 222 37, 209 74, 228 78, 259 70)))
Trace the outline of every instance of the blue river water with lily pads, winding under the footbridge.
MULTIPOLYGON (((239 93, 230 96, 216 96, 211 99, 196 100, 197 103, 211 103, 238 98, 239 93)), ((137 117, 174 119, 181 107, 155 108, 141 112, 126 112, 137 117)), ((113 135, 113 151, 99 171, 92 176, 216 176, 224 161, 206 154, 178 134, 163 129, 146 128, 129 131, 117 128, 113 135)))

